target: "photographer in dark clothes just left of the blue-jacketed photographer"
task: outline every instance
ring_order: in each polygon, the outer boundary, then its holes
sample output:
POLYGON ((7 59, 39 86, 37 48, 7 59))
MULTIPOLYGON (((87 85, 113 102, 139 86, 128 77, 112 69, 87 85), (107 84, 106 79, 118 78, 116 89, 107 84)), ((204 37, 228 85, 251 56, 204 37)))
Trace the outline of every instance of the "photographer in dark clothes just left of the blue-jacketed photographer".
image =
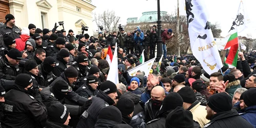
POLYGON ((126 46, 127 53, 133 54, 134 52, 134 36, 131 32, 127 32, 127 35, 124 36, 124 43, 126 46))

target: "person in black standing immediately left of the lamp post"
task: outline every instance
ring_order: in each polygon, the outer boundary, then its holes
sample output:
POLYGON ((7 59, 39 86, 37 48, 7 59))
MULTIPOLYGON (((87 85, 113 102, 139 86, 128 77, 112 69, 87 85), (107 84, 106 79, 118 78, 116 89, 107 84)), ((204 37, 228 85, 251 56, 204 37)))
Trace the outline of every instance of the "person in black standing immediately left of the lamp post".
POLYGON ((150 33, 150 59, 155 57, 156 42, 158 37, 156 27, 156 25, 153 25, 152 31, 150 33))

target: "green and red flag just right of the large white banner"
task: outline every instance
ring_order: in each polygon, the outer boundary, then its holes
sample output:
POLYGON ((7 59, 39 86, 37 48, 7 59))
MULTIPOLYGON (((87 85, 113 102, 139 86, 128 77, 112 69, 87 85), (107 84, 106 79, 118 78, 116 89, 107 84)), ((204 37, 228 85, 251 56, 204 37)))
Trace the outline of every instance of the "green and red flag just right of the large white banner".
POLYGON ((227 49, 229 47, 230 47, 230 50, 229 50, 229 54, 227 56, 225 63, 232 65, 234 67, 237 67, 238 52, 239 52, 239 50, 238 50, 239 49, 238 33, 237 32, 230 35, 224 49, 227 49))

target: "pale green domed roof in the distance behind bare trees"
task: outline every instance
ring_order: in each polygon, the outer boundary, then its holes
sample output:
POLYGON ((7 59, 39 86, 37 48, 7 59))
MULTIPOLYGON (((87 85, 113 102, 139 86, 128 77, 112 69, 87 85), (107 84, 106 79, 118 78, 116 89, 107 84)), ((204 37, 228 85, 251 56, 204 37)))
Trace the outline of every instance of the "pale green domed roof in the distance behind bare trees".
MULTIPOLYGON (((167 12, 160 11, 160 15, 166 15, 167 12)), ((157 22, 157 11, 143 12, 139 22, 157 22)))

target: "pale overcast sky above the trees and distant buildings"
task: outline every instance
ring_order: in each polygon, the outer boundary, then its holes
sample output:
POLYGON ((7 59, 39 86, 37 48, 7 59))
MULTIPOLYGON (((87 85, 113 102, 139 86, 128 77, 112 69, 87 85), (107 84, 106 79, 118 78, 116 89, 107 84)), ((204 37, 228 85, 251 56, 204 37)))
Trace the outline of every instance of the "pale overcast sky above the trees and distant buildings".
MULTIPOLYGON (((230 29, 234 18, 238 12, 240 0, 204 0, 209 15, 209 22, 218 22, 221 25, 222 36, 225 36, 230 29)), ((185 2, 185 0, 180 0, 185 2)), ((249 16, 251 23, 249 27, 242 33, 241 36, 246 36, 247 33, 252 34, 253 38, 256 38, 256 17, 255 17, 255 0, 244 0, 244 8, 249 16)), ((142 12, 157 11, 156 0, 93 0, 92 4, 96 6, 93 13, 103 13, 104 10, 114 10, 118 16, 121 17, 121 24, 126 24, 126 19, 129 17, 142 16, 142 12)), ((177 8, 177 0, 160 0, 161 11, 167 11, 169 14, 175 12, 177 8)), ((182 9, 182 8, 181 8, 182 9)), ((184 9, 184 8, 183 8, 184 9)), ((182 12, 181 12, 182 14, 182 12)), ((96 23, 94 24, 94 30, 97 29, 96 23)))

